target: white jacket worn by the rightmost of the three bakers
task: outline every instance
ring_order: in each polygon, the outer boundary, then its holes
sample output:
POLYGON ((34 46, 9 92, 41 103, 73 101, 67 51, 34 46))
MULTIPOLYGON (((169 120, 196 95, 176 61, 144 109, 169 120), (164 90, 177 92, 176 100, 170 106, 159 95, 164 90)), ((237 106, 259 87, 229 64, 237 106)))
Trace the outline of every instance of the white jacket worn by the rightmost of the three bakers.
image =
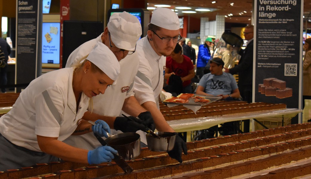
POLYGON ((135 77, 135 97, 141 105, 152 101, 159 108, 159 95, 163 88, 166 58, 159 56, 153 50, 147 37, 137 42, 136 51, 139 56, 138 71, 143 78, 139 74, 135 77))

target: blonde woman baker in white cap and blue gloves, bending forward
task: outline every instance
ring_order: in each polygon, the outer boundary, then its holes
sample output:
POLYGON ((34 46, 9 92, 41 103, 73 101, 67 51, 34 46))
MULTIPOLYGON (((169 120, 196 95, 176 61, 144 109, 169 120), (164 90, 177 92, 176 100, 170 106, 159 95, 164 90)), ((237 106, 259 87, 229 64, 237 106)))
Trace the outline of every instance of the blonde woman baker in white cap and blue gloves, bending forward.
POLYGON ((112 51, 97 43, 83 63, 41 75, 33 80, 0 118, 0 171, 28 167, 58 158, 99 164, 117 151, 109 146, 84 150, 62 142, 70 135, 94 132, 106 136, 107 123, 95 126, 81 119, 93 96, 104 94, 120 73, 112 51))

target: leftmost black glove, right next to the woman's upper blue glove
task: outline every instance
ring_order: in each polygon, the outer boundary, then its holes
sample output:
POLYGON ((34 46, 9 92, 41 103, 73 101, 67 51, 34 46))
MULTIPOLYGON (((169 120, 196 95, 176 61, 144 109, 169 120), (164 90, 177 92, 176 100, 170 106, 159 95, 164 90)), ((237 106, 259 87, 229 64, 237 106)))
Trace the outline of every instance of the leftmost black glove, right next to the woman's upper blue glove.
POLYGON ((122 132, 136 132, 145 128, 141 119, 137 119, 133 116, 128 116, 128 118, 131 118, 132 120, 127 119, 126 117, 116 117, 114 120, 114 129, 122 132))

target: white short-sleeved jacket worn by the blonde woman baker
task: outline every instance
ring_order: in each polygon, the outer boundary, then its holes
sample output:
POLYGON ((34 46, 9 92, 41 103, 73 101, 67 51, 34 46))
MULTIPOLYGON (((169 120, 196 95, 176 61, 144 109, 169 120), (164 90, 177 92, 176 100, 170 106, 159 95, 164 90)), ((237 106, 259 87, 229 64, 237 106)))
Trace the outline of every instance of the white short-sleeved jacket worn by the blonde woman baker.
POLYGON ((13 144, 42 152, 37 135, 63 141, 77 128, 90 98, 81 94, 78 111, 72 90, 73 68, 51 71, 34 79, 0 118, 0 133, 13 144))

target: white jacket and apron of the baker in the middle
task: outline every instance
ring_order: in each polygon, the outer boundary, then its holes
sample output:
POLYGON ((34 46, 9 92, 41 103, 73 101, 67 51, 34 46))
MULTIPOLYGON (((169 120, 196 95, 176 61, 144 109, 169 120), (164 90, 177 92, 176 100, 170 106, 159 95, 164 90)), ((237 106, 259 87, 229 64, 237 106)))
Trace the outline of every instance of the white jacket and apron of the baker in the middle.
MULTIPOLYGON (((89 54, 97 42, 102 42, 100 37, 101 35, 83 43, 80 47, 74 50, 67 60, 66 67, 89 54)), ((113 85, 106 89, 104 94, 92 98, 93 113, 111 117, 120 116, 124 100, 130 96, 134 96, 133 81, 139 65, 137 52, 132 55, 127 55, 124 59, 120 60, 119 63, 120 74, 118 79, 113 85)), ((111 129, 110 131, 112 134, 118 133, 114 129, 111 129)), ((64 142, 86 150, 93 150, 101 145, 93 135, 93 132, 80 136, 70 136, 64 142)))

